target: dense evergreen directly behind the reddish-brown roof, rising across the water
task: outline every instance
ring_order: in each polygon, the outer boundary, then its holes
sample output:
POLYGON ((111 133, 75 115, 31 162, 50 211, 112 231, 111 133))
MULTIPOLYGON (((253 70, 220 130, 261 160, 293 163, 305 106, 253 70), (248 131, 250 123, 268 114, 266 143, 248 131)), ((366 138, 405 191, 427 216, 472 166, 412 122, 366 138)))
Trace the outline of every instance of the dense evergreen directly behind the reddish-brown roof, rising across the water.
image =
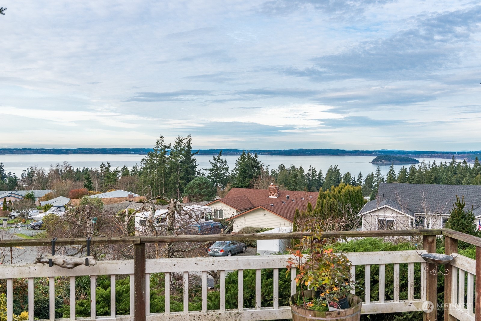
POLYGON ((258 160, 257 153, 242 151, 242 154, 236 161, 234 170, 232 171, 233 184, 232 187, 249 188, 254 177, 260 175, 262 163, 258 160))

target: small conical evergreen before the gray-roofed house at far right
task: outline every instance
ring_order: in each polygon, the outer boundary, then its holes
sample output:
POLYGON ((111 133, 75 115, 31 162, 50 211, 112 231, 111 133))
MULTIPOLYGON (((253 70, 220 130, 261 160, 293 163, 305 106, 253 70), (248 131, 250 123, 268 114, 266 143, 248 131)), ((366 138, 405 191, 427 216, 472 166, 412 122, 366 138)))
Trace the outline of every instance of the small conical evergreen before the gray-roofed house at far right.
MULTIPOLYGON (((478 235, 476 229, 477 225, 474 222, 475 216, 473 210, 464 210, 466 202, 464 201, 464 196, 459 199, 456 195, 456 202, 453 204, 453 208, 449 210, 449 219, 446 222, 446 228, 466 233, 469 235, 478 235)), ((468 244, 460 242, 460 247, 466 248, 468 244), (462 243, 462 244, 461 244, 462 243)))

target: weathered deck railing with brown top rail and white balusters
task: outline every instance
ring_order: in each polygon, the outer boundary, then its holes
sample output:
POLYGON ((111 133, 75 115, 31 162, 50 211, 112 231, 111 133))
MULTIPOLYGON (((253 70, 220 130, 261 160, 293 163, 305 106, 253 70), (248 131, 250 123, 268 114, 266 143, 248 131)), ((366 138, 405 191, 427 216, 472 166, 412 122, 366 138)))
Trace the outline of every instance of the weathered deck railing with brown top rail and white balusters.
MULTIPOLYGON (((25 278, 28 280, 28 310, 30 321, 34 320, 34 287, 36 277, 48 277, 50 286, 50 320, 55 315, 55 283, 56 276, 70 277, 70 320, 76 319, 75 307, 75 280, 76 276, 90 276, 90 319, 112 319, 123 321, 190 321, 208 320, 215 318, 219 321, 228 320, 274 320, 290 319, 289 307, 279 306, 279 269, 286 266, 288 255, 275 256, 250 256, 226 258, 182 258, 182 259, 145 259, 145 243, 152 242, 204 242, 216 240, 250 240, 250 239, 292 239, 302 237, 302 233, 266 234, 266 235, 180 235, 180 236, 149 236, 149 237, 123 237, 123 238, 93 238, 91 244, 134 244, 135 259, 119 261, 99 261, 95 266, 78 266, 73 270, 57 266, 49 268, 41 264, 13 264, 0 266, 0 278, 7 280, 7 321, 13 320, 13 279, 25 278), (243 300, 243 271, 255 270, 255 307, 244 308, 243 300), (261 271, 273 269, 273 304, 272 307, 261 307, 261 271), (207 271, 220 271, 220 309, 207 309, 207 271), (225 277, 228 271, 237 271, 238 282, 238 307, 226 309, 226 284, 225 277), (150 274, 165 273, 165 313, 150 313, 150 274), (170 274, 181 272, 184 279, 184 310, 181 312, 170 311, 170 274), (202 279, 202 309, 189 311, 188 291, 189 273, 199 273, 202 279), (96 315, 96 278, 98 275, 110 275, 112 289, 114 289, 115 275, 130 275, 130 314, 115 315, 111 309, 110 317, 96 315)), ((472 260, 462 256, 456 258, 455 263, 449 266, 450 274, 445 282, 445 320, 481 321, 480 289, 481 277, 481 238, 464 235, 451 230, 402 230, 402 231, 352 231, 352 232, 326 232, 326 237, 367 237, 367 236, 411 236, 422 235, 424 250, 422 252, 436 252, 436 237, 445 236, 446 253, 457 252, 457 240, 476 245, 477 259, 472 260), (478 273, 477 273, 478 272, 478 273), (465 283, 465 275, 467 280, 465 283), (479 279, 479 280, 478 280, 479 279), (465 299, 465 284, 467 284, 467 298, 465 299), (474 308, 469 308, 465 303, 475 302, 474 308)), ((57 239, 57 245, 85 244, 85 239, 57 239)), ((5 246, 49 246, 50 240, 5 240, 0 241, 0 247, 5 246)), ((421 251, 418 251, 421 252, 421 251)), ((434 266, 424 262, 416 251, 392 252, 365 252, 348 253, 348 258, 353 264, 353 278, 356 278, 355 267, 364 266, 365 296, 362 313, 389 313, 405 311, 421 311, 425 309, 428 301, 436 304, 437 277, 425 272, 425 267, 431 271, 434 266), (400 299, 400 264, 407 263, 407 299, 400 299), (420 280, 415 279, 415 264, 420 263, 420 280), (386 290, 386 264, 393 265, 393 299, 387 300, 386 290), (371 280, 377 276, 372 275, 371 266, 379 265, 379 298, 374 301, 371 296, 371 280), (414 292, 414 284, 420 282, 420 293, 414 292), (416 297, 416 298, 415 298, 416 297)), ((283 276, 281 276, 283 277, 283 276)), ((295 270, 291 271, 291 294, 296 287, 293 282, 295 270)), ((389 286, 390 284, 388 284, 389 286)), ((115 307, 115 290, 111 291, 111 307, 115 307)), ((437 310, 424 312, 424 320, 435 320, 437 310)))

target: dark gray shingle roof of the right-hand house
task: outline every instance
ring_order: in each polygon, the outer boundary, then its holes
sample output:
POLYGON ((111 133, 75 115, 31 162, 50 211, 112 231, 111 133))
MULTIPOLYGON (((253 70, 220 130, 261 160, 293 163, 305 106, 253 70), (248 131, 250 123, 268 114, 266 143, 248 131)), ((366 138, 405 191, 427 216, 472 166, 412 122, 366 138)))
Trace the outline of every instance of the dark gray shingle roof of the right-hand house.
POLYGON ((362 214, 379 207, 380 204, 389 203, 389 206, 393 208, 397 206, 396 209, 401 209, 409 215, 414 215, 415 212, 448 214, 456 201, 456 195, 459 198, 464 196, 466 210, 472 207, 475 215, 481 215, 481 185, 395 183, 380 183, 378 199, 367 202, 359 213, 362 214))

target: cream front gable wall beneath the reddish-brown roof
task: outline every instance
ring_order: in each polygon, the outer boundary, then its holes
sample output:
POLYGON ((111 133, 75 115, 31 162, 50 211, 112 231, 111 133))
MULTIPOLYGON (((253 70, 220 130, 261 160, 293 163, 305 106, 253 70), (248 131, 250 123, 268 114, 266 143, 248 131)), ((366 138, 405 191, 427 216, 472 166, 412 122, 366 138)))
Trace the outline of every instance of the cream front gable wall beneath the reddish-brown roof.
POLYGON ((246 226, 283 227, 292 229, 292 222, 264 209, 256 209, 234 219, 233 232, 239 232, 246 226), (265 215, 264 215, 265 214, 265 215))

